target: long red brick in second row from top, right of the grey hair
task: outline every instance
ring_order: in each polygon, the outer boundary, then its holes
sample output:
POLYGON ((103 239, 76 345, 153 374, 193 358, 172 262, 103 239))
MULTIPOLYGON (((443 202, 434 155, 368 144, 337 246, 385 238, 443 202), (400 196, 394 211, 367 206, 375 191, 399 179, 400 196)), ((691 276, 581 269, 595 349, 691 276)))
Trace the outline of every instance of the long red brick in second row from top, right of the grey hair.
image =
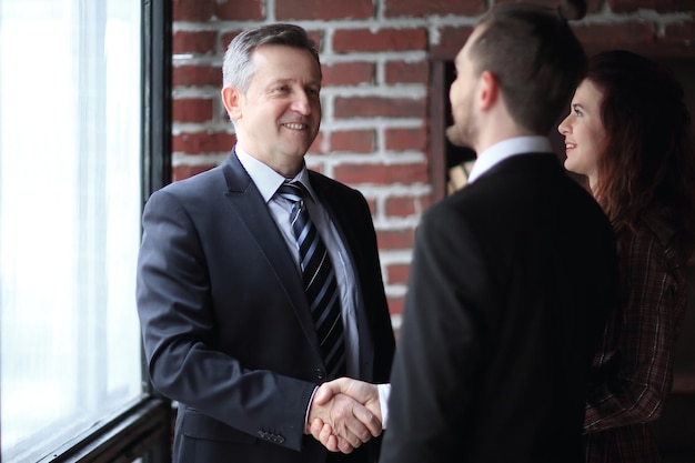
POLYGON ((336 53, 354 51, 406 51, 426 50, 427 36, 424 29, 340 29, 333 34, 336 53))

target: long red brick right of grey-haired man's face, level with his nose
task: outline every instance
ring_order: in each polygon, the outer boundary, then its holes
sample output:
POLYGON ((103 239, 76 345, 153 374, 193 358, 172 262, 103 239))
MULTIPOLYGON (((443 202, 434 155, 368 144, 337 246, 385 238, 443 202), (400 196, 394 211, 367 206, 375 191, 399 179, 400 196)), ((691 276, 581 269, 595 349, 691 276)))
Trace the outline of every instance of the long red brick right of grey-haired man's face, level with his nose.
POLYGON ((335 119, 346 118, 424 118, 425 100, 412 98, 336 98, 335 119))

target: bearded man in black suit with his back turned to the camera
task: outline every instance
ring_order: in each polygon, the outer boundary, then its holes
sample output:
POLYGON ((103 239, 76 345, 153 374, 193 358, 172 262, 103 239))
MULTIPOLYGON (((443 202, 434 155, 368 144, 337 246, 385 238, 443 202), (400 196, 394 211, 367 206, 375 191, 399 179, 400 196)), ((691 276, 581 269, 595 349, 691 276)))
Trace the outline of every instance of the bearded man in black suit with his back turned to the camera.
POLYGON ((459 52, 447 138, 470 183, 416 233, 381 463, 583 461, 614 238, 546 134, 585 69, 561 11, 497 4, 459 52))

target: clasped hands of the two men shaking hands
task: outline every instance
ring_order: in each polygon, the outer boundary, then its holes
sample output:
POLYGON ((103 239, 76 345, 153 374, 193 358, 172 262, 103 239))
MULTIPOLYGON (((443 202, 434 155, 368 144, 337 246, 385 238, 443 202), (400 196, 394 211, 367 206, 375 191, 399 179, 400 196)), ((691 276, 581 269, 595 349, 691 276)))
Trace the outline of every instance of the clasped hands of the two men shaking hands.
POLYGON ((339 378, 316 390, 309 407, 306 434, 331 452, 350 453, 381 434, 385 427, 381 410, 376 384, 339 378))

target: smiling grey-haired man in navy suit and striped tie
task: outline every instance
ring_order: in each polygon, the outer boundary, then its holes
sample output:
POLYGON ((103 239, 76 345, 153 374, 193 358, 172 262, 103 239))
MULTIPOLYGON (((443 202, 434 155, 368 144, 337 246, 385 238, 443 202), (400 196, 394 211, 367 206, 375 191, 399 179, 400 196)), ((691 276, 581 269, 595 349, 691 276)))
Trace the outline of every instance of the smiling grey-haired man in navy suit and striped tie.
POLYGON ((304 164, 321 121, 315 46, 296 26, 244 31, 223 79, 231 155, 155 192, 143 213, 138 313, 152 384, 179 403, 173 460, 374 462, 374 414, 346 395, 313 402, 336 375, 387 381, 394 351, 366 201, 304 164), (308 432, 316 417, 357 449, 328 452, 308 432))

